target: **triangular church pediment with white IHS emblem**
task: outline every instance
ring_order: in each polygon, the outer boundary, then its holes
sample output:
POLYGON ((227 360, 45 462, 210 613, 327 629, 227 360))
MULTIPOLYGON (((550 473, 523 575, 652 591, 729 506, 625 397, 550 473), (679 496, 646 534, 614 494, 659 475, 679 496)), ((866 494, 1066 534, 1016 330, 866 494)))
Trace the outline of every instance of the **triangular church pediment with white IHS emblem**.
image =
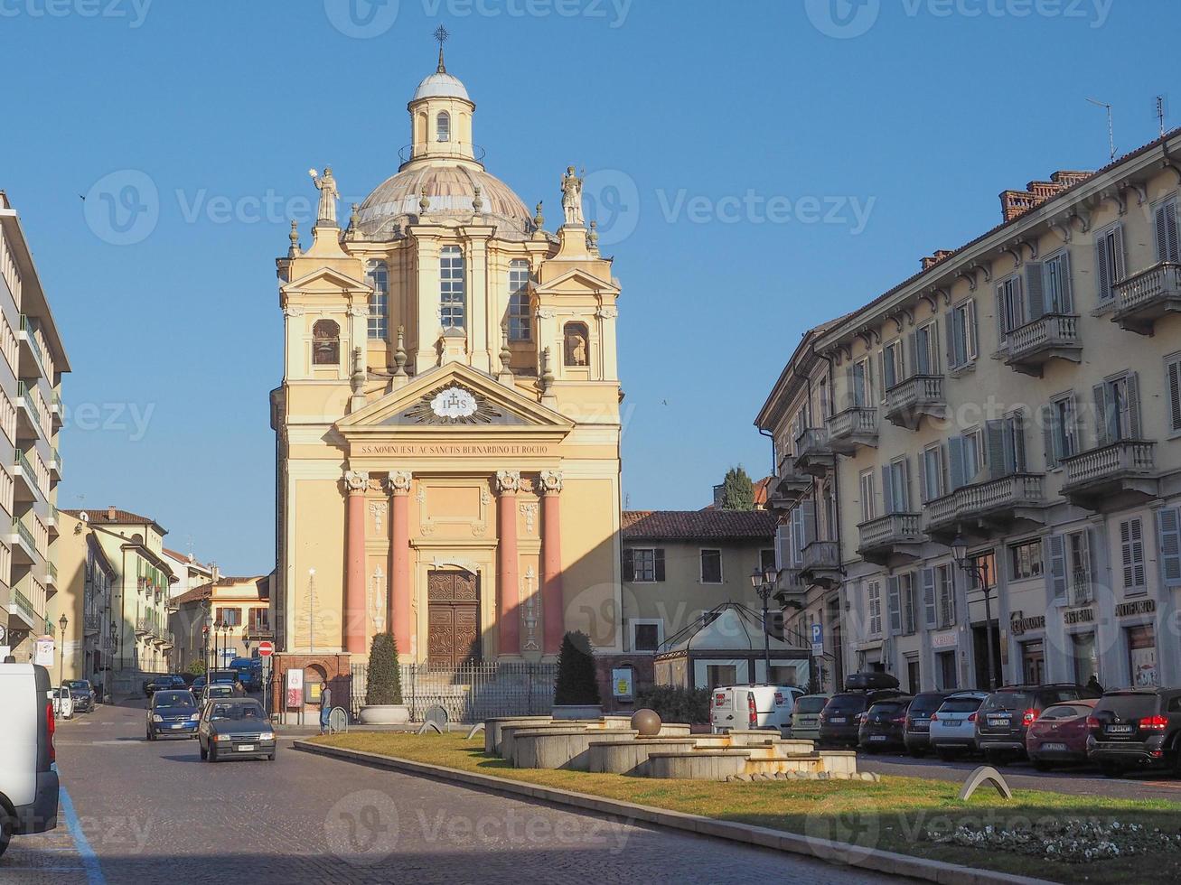
POLYGON ((454 362, 411 379, 398 391, 337 422, 344 435, 373 431, 530 431, 565 437, 574 424, 516 388, 454 362))

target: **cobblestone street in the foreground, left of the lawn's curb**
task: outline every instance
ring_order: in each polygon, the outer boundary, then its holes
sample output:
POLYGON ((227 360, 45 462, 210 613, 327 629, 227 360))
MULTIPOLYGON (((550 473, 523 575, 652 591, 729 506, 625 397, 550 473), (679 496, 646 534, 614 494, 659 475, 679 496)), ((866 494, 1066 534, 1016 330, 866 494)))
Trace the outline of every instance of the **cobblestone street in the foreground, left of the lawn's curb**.
POLYGON ((143 716, 104 706, 59 726, 59 771, 77 820, 63 809, 56 831, 14 839, 0 859, 0 881, 886 881, 298 753, 289 739, 274 762, 208 765, 196 741, 144 741, 143 716))

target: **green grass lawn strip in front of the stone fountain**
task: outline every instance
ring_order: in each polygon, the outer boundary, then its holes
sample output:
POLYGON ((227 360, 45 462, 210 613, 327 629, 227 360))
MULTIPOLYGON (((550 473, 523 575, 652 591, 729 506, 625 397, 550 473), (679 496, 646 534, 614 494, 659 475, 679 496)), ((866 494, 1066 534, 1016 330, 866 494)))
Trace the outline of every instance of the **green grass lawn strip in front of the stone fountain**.
POLYGON ((1140 824, 1176 834, 1181 804, 1064 795, 1019 789, 1006 802, 991 787, 967 804, 957 799, 959 785, 918 778, 862 781, 762 781, 720 784, 648 780, 616 774, 513 768, 485 756, 483 735, 465 741, 461 734, 412 735, 353 733, 312 739, 315 743, 380 753, 417 762, 481 772, 528 784, 590 793, 657 808, 707 815, 848 841, 859 848, 883 848, 973 867, 1071 883, 1181 881, 1181 851, 1159 847, 1161 837, 1142 839, 1150 848, 1121 858, 1085 864, 1042 860, 998 848, 940 845, 927 832, 948 832, 958 824, 1026 827, 1066 818, 1103 824, 1140 824))

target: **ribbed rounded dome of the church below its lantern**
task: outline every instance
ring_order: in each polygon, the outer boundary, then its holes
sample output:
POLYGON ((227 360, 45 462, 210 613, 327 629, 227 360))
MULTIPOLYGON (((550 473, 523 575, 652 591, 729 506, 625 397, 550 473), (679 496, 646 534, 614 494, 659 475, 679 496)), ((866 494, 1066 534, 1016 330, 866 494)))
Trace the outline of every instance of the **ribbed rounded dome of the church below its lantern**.
POLYGON ((430 201, 428 214, 432 217, 469 221, 478 186, 481 215, 497 227, 497 236, 523 240, 533 231, 529 210, 500 178, 477 166, 436 162, 411 164, 379 184, 360 205, 361 232, 385 240, 396 227, 416 223, 424 186, 430 201))

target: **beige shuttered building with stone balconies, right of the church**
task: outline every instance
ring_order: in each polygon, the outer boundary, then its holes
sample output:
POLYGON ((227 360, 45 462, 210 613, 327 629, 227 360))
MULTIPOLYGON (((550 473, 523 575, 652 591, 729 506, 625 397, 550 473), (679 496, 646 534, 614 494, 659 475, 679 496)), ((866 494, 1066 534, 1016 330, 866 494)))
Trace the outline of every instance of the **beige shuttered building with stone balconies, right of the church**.
POLYGON ((1000 225, 804 335, 756 424, 829 688, 987 687, 990 644, 997 683, 1181 683, 1179 150, 1005 191, 1000 225))

